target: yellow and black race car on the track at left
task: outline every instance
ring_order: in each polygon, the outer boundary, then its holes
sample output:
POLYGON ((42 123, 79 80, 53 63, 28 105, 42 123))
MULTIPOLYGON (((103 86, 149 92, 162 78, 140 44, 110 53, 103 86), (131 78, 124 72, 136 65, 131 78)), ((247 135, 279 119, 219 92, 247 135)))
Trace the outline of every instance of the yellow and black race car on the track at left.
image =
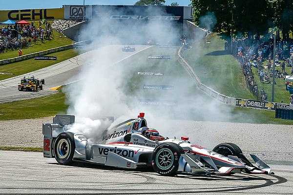
POLYGON ((45 80, 38 78, 21 78, 21 83, 18 84, 19 91, 40 91, 42 90, 42 85, 45 84, 45 80))

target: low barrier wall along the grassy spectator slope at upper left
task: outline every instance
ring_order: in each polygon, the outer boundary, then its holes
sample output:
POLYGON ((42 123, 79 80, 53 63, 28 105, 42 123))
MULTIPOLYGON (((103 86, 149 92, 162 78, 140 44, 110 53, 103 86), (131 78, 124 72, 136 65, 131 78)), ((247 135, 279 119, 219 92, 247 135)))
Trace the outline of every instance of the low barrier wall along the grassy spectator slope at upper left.
POLYGON ((45 50, 45 51, 42 51, 42 52, 36 52, 36 53, 32 53, 32 54, 23 55, 23 56, 16 57, 16 58, 2 59, 2 60, 0 60, 0 66, 5 65, 5 64, 9 64, 9 63, 18 62, 18 61, 21 61, 21 60, 24 60, 24 59, 31 59, 31 58, 35 58, 35 57, 38 57, 38 56, 44 56, 44 55, 47 55, 47 54, 52 54, 52 53, 55 53, 55 52, 60 52, 60 51, 63 51, 63 50, 72 49, 72 48, 76 47, 78 44, 81 44, 81 43, 83 43, 85 41, 86 40, 80 41, 80 42, 77 42, 77 43, 73 43, 71 45, 65 45, 65 46, 62 46, 62 47, 56 47, 56 48, 53 48, 53 49, 48 49, 48 50, 45 50))

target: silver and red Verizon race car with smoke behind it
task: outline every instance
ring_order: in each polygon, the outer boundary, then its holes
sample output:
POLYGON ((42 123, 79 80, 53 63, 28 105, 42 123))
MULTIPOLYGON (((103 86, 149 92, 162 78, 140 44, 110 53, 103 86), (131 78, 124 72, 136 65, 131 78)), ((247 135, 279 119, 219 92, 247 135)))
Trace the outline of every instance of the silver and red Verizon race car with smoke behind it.
MULTIPOLYGON (((42 125, 43 156, 61 165, 83 161, 99 165, 136 169, 152 166, 163 176, 273 174, 255 155, 254 166, 233 143, 221 143, 213 150, 190 143, 188 137, 168 138, 148 128, 145 114, 108 128, 97 143, 70 131, 73 115, 56 115, 53 123, 42 125)), ((108 120, 108 119, 105 119, 108 120)))

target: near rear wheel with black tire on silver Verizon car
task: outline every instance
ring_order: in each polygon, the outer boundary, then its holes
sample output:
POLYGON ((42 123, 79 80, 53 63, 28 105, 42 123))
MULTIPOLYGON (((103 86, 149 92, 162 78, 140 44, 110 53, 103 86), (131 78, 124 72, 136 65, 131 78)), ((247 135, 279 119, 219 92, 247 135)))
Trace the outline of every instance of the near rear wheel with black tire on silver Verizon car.
POLYGON ((59 134, 54 143, 54 155, 57 162, 61 165, 71 164, 74 150, 75 142, 73 134, 70 132, 59 134))

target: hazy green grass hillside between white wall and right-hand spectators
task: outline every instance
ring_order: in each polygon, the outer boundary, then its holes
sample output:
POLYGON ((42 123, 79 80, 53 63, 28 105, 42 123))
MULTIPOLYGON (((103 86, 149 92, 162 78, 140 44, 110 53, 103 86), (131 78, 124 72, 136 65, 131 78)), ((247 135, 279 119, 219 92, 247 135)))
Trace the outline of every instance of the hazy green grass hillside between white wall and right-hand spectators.
POLYGON ((224 42, 216 34, 211 34, 186 50, 184 58, 203 84, 232 98, 254 99, 239 63, 224 51, 224 42))

